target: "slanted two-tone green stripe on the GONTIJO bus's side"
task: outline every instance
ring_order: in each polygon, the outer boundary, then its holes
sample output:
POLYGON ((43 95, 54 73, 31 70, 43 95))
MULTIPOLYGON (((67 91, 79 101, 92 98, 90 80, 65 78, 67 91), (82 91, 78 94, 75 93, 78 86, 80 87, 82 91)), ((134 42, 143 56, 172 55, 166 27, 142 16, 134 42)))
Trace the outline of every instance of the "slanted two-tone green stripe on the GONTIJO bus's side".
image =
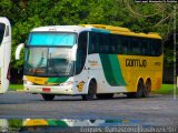
POLYGON ((112 86, 126 85, 117 54, 99 54, 107 82, 112 86))

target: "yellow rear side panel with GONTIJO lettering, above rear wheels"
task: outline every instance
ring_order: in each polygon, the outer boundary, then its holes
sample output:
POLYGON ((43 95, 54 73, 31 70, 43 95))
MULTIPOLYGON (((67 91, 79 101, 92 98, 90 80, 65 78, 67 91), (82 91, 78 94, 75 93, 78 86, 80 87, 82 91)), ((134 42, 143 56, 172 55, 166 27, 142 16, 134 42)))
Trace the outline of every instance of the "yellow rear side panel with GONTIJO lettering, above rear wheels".
POLYGON ((139 57, 139 55, 118 55, 123 79, 126 80, 127 91, 136 92, 139 79, 151 80, 151 91, 158 90, 162 82, 162 55, 160 57, 139 57))

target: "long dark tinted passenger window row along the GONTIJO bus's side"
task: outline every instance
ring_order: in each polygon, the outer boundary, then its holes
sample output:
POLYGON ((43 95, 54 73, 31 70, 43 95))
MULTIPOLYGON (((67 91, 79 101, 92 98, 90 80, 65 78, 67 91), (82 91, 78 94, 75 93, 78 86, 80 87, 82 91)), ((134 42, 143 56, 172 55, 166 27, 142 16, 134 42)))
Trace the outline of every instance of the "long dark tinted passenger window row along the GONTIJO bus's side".
POLYGON ((162 45, 160 39, 91 32, 89 53, 157 57, 162 53, 162 45))

